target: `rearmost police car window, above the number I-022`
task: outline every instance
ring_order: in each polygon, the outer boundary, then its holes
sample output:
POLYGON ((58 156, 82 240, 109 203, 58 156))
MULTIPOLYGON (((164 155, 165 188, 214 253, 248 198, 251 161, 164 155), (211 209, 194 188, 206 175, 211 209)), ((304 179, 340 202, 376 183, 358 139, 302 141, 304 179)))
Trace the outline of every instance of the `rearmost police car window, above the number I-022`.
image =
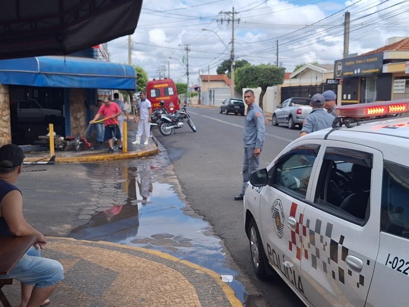
POLYGON ((381 231, 409 238, 409 168, 384 161, 381 231))

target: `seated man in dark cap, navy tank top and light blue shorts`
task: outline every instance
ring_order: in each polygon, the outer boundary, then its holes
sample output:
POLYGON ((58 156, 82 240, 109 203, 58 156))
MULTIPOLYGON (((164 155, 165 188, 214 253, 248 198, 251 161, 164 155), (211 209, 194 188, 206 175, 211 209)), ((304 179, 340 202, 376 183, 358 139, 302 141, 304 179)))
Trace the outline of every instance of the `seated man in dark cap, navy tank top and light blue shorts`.
POLYGON ((47 244, 47 239, 27 223, 22 213, 22 195, 14 184, 21 173, 24 158, 24 152, 17 145, 8 144, 0 148, 0 235, 36 235, 37 242, 10 274, 0 275, 0 278, 21 282, 20 307, 39 307, 48 304, 48 297, 64 274, 60 262, 41 257, 41 249, 47 244))

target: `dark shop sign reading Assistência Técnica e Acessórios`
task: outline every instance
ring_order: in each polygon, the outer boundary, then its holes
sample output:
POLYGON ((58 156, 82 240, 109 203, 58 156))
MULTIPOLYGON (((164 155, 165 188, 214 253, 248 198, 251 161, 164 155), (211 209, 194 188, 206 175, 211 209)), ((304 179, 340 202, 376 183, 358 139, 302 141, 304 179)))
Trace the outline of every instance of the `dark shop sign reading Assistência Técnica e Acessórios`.
POLYGON ((335 77, 352 78, 382 73, 383 52, 335 61, 335 77))

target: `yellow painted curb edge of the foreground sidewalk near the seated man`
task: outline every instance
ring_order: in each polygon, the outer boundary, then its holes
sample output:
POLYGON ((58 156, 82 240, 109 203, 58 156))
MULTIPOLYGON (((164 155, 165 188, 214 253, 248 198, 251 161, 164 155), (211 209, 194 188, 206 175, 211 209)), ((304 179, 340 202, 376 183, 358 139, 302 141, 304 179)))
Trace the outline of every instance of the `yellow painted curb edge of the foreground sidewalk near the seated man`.
POLYGON ((54 236, 47 236, 47 238, 50 239, 57 239, 57 240, 67 240, 67 241, 75 241, 75 242, 84 242, 84 243, 93 243, 93 244, 100 244, 100 245, 108 245, 108 246, 115 246, 115 247, 120 247, 124 249, 129 249, 129 250, 136 250, 140 251, 143 253, 151 254, 157 257, 161 257, 167 260, 175 261, 175 262, 180 262, 181 264, 184 264, 188 267, 197 269, 199 271, 202 271, 203 273, 206 273, 214 278, 214 280, 219 284, 221 290, 224 292, 226 297, 229 299, 230 303, 232 304, 233 307, 242 307, 243 304, 240 302, 240 300, 236 297, 233 289, 229 286, 229 284, 223 282, 221 280, 220 274, 216 273, 215 271, 212 271, 210 269, 201 267, 199 265, 196 265, 192 262, 189 262, 187 260, 181 260, 179 258, 176 258, 172 255, 169 255, 167 253, 161 252, 161 251, 156 251, 156 250, 150 250, 142 247, 135 247, 135 246, 128 246, 128 245, 123 245, 123 244, 117 244, 117 243, 112 243, 112 242, 106 242, 106 241, 87 241, 87 240, 77 240, 74 238, 67 238, 67 237, 54 237, 54 236))

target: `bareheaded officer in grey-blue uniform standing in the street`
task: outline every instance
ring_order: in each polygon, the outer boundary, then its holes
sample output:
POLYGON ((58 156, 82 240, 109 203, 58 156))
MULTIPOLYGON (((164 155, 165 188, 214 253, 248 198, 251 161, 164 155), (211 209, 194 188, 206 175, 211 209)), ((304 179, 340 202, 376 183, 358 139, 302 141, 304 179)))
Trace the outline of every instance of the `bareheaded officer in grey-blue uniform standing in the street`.
POLYGON ((259 168, 260 152, 264 144, 264 113, 254 103, 255 97, 252 90, 244 92, 244 102, 247 104, 247 115, 244 123, 244 158, 243 158, 243 185, 240 194, 234 196, 235 201, 243 200, 244 190, 250 174, 259 168))

